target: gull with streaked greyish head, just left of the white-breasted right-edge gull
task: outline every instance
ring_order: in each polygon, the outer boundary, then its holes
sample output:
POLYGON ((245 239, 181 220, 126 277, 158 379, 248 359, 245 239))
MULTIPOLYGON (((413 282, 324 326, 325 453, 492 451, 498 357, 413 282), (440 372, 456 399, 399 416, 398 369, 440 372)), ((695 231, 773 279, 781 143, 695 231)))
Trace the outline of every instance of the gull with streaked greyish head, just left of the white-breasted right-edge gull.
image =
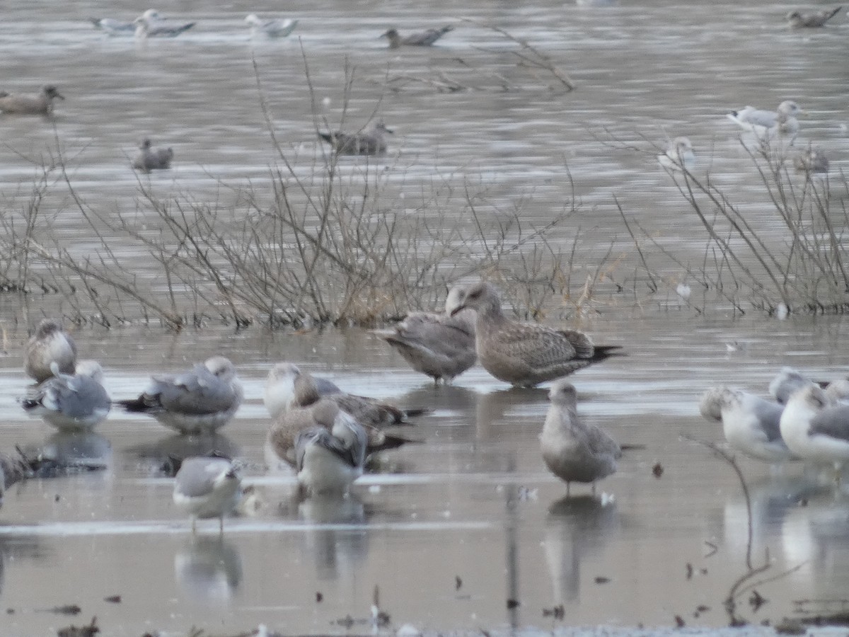
POLYGON ((781 403, 721 386, 702 394, 699 411, 706 420, 722 422, 728 444, 751 458, 766 462, 798 459, 781 437, 781 403))

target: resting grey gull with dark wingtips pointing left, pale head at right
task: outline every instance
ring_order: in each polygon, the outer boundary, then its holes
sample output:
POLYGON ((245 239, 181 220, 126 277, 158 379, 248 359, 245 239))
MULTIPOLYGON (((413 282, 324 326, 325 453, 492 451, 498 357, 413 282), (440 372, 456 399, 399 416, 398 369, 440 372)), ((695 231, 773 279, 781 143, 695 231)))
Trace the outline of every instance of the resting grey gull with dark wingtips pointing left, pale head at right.
POLYGON ((213 356, 183 374, 151 376, 138 398, 118 401, 129 412, 149 414, 184 434, 212 433, 226 425, 244 392, 228 358, 213 356))

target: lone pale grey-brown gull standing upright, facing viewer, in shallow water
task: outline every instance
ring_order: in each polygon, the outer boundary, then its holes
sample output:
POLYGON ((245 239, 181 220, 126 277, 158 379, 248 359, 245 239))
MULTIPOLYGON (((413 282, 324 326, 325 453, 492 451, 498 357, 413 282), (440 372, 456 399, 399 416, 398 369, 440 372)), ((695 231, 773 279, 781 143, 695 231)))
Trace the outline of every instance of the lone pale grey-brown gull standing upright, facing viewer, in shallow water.
POLYGON ((539 436, 548 470, 566 483, 595 482, 616 472, 621 448, 599 426, 584 422, 577 413, 575 386, 565 379, 554 382, 548 392, 551 406, 539 436))

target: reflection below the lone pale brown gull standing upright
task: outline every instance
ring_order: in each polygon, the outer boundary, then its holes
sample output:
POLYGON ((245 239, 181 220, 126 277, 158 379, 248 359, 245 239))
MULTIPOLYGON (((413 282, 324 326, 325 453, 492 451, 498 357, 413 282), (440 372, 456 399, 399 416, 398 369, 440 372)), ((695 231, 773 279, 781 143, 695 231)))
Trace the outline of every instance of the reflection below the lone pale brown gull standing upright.
POLYGON ((548 507, 543 548, 555 605, 581 598, 581 561, 593 560, 619 527, 616 503, 607 499, 572 496, 548 507))

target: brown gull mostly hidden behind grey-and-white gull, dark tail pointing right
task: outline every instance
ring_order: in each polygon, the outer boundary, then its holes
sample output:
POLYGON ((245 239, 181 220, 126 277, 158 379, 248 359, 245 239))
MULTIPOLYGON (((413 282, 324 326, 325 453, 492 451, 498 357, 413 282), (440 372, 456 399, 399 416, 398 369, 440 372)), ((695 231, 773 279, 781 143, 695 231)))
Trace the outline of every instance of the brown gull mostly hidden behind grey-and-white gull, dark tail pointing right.
MULTIPOLYGON (((278 459, 296 467, 298 459, 295 442, 301 431, 308 431, 314 427, 333 431, 336 420, 345 420, 346 418, 356 421, 351 414, 346 414, 339 408, 339 405, 327 397, 312 403, 308 407, 293 407, 279 413, 274 418, 268 430, 267 444, 278 459)), ((363 430, 367 438, 367 454, 397 448, 409 442, 406 438, 391 436, 374 426, 363 426, 363 430)))

